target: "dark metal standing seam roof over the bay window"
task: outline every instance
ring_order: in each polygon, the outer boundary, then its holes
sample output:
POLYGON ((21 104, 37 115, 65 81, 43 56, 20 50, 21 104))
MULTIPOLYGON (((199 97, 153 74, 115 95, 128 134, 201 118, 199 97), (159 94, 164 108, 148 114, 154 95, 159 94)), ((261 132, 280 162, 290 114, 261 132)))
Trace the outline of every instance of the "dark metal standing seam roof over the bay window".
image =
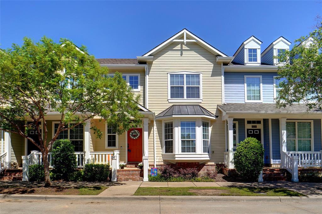
POLYGON ((218 117, 200 105, 172 105, 166 110, 156 115, 156 118, 173 116, 173 115, 182 115, 182 116, 196 115, 196 116, 209 116, 213 118, 218 117))

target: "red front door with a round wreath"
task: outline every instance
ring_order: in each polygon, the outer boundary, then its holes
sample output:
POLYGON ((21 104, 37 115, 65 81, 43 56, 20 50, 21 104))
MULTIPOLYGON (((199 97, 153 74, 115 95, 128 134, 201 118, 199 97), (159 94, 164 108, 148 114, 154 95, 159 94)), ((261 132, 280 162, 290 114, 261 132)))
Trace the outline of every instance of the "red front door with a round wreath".
POLYGON ((142 162, 142 129, 128 130, 128 162, 142 162))

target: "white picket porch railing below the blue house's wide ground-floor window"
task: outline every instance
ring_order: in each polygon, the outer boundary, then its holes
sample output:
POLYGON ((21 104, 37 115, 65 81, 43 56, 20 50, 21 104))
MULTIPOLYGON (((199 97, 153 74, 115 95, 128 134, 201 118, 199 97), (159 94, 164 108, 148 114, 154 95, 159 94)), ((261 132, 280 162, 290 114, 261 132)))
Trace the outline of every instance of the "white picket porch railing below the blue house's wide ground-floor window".
POLYGON ((322 150, 319 152, 287 152, 287 154, 296 156, 300 167, 322 167, 322 150))

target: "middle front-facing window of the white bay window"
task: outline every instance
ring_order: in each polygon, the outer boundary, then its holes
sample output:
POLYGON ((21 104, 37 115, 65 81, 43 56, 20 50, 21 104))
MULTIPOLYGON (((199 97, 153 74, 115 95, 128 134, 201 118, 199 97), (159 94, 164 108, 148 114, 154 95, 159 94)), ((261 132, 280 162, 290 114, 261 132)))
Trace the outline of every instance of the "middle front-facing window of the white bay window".
POLYGON ((196 151, 196 122, 181 121, 181 152, 189 153, 196 151))

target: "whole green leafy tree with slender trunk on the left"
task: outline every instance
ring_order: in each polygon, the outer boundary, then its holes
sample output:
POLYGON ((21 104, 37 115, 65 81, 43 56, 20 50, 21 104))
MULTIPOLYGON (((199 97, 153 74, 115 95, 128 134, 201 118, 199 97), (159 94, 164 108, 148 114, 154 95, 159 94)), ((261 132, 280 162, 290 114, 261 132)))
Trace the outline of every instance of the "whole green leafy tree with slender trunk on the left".
MULTIPOLYGON (((141 123, 137 101, 120 73, 107 78, 86 48, 62 39, 55 43, 43 37, 34 43, 24 38, 22 46, 0 51, 0 129, 19 134, 35 144, 43 155, 45 186, 50 186, 48 152, 59 133, 94 117, 105 119, 118 134, 141 123), (60 115, 58 130, 48 139, 46 116, 60 115), (25 124, 26 120, 30 124, 25 124), (40 122, 43 123, 43 136, 40 122), (37 142, 28 129, 38 130, 37 142)), ((91 124, 97 137, 102 132, 91 124)))

